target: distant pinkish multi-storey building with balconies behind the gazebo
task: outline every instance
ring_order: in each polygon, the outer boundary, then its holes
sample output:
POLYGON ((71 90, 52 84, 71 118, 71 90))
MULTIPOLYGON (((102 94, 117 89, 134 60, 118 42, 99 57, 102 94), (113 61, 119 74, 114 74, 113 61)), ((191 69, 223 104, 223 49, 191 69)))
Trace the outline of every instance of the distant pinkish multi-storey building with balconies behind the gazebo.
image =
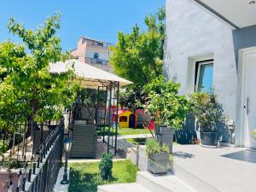
POLYGON ((109 57, 112 54, 110 46, 114 44, 82 37, 79 38, 78 48, 74 49, 71 54, 79 61, 113 72, 109 63, 109 57))

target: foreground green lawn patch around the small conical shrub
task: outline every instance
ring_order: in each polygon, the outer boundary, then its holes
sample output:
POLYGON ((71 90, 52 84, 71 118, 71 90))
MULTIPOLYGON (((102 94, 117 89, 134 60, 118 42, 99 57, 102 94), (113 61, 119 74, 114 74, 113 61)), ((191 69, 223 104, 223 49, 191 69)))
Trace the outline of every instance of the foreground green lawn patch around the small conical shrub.
POLYGON ((99 175, 99 162, 69 164, 69 192, 96 192, 97 186, 136 182, 137 167, 130 160, 113 161, 113 179, 104 181, 99 175))

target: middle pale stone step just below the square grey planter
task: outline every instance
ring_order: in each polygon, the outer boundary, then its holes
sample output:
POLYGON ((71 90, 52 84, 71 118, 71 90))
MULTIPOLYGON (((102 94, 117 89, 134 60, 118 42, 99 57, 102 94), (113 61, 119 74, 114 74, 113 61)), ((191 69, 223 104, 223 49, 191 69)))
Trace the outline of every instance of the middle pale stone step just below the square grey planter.
POLYGON ((152 192, 196 192, 174 175, 154 176, 149 172, 137 172, 137 183, 152 192))

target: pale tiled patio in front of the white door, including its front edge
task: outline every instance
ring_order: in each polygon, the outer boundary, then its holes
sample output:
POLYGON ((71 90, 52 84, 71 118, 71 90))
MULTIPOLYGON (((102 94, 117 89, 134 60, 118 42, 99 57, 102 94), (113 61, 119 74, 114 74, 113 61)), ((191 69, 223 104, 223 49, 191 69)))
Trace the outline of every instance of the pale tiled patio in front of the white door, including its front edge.
POLYGON ((174 174, 199 192, 255 191, 256 150, 174 145, 174 174))

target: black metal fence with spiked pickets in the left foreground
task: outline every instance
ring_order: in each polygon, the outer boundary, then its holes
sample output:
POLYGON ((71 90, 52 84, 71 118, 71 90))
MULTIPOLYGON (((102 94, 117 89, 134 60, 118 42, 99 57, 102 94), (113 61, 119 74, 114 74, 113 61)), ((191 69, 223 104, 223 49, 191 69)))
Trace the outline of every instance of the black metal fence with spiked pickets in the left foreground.
MULTIPOLYGON (((64 137, 64 119, 59 125, 49 125, 51 127, 47 137, 43 137, 43 125, 41 127, 41 137, 35 134, 32 138, 41 140, 40 145, 32 153, 31 160, 23 161, 24 168, 19 172, 9 170, 7 182, 8 192, 52 192, 61 168, 61 157, 64 137)), ((36 130, 32 132, 35 133, 36 130)), ((35 142, 34 142, 35 143, 35 142)), ((11 149, 10 149, 11 150, 11 149)), ((1 191, 2 192, 2 191, 1 191)))

